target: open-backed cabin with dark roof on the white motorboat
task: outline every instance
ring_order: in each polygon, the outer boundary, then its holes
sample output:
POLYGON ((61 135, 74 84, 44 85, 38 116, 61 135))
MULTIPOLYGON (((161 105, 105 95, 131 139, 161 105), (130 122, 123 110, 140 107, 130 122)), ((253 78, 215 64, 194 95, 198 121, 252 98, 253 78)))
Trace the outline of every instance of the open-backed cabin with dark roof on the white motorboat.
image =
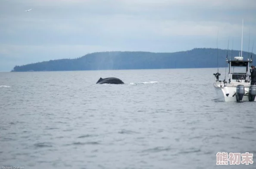
POLYGON ((234 57, 234 60, 226 60, 228 62, 229 67, 229 83, 230 82, 245 82, 249 83, 249 70, 250 63, 253 60, 248 59, 244 60, 243 57, 234 57))

